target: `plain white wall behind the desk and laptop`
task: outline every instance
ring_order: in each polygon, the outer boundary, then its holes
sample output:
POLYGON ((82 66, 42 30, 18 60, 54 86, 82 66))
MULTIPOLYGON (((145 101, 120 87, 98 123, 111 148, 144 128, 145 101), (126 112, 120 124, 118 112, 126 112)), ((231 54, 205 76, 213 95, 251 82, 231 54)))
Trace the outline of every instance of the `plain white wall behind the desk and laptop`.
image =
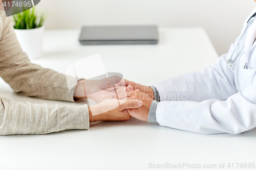
POLYGON ((221 55, 255 6, 253 0, 42 0, 38 10, 52 13, 47 29, 143 24, 204 27, 221 55))

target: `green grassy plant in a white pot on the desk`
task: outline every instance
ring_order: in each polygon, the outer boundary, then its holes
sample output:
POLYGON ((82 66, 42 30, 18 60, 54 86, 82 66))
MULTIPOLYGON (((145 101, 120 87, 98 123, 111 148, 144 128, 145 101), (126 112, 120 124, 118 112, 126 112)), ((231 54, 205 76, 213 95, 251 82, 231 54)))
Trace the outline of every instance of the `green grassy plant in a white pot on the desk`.
POLYGON ((30 59, 42 56, 44 22, 47 16, 35 14, 35 8, 13 15, 13 27, 23 51, 30 59))

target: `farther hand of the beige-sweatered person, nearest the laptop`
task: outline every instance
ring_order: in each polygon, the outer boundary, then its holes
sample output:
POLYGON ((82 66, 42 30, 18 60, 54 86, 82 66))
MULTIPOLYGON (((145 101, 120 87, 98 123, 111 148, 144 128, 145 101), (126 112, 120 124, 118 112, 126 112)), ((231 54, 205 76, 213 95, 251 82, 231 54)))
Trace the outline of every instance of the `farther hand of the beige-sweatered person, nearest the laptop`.
POLYGON ((108 99, 117 99, 117 95, 126 91, 125 86, 129 83, 131 82, 118 76, 112 76, 101 80, 79 80, 75 87, 74 97, 76 99, 92 99, 96 103, 108 99), (115 88, 113 86, 115 86, 115 88))

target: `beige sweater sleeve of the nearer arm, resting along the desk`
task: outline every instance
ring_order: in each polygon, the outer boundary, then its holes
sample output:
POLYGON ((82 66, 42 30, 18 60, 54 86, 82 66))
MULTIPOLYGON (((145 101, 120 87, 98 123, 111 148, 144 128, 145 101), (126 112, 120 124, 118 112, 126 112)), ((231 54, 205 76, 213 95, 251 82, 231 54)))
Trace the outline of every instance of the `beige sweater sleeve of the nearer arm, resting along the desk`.
POLYGON ((17 103, 0 98, 0 135, 47 134, 89 126, 87 105, 17 103))

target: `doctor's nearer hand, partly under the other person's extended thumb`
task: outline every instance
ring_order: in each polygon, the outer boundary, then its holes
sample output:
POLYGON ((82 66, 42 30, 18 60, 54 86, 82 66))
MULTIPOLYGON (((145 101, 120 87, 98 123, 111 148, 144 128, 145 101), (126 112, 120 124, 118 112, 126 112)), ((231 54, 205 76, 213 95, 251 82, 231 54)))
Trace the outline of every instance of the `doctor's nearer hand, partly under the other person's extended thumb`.
POLYGON ((138 89, 123 92, 121 95, 126 95, 127 100, 140 100, 143 102, 142 107, 136 109, 127 109, 127 111, 131 116, 147 122, 148 112, 150 111, 150 106, 151 103, 153 102, 153 99, 149 95, 138 89))

